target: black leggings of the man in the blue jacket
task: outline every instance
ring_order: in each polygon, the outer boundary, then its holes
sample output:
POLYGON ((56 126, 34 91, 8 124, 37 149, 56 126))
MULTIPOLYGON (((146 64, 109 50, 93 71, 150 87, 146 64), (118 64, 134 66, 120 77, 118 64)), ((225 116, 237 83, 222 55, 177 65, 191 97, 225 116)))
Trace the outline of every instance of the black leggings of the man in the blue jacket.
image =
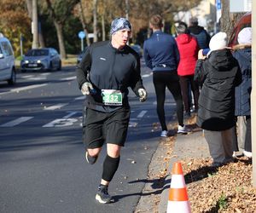
POLYGON ((154 72, 153 83, 157 101, 157 114, 162 130, 167 130, 165 115, 166 87, 170 90, 176 101, 177 122, 179 125, 183 125, 183 97, 177 72, 154 72))

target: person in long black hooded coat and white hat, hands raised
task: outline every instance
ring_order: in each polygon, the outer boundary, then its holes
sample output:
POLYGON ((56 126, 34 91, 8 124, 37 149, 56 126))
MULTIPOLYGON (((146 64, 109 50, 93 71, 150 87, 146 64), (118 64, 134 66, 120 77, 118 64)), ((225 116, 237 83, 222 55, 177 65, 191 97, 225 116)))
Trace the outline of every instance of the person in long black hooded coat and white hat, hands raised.
POLYGON ((204 130, 212 166, 218 167, 233 161, 235 88, 241 83, 241 69, 226 47, 225 32, 214 35, 209 46, 207 56, 199 51, 195 66, 195 80, 202 85, 196 123, 204 130))

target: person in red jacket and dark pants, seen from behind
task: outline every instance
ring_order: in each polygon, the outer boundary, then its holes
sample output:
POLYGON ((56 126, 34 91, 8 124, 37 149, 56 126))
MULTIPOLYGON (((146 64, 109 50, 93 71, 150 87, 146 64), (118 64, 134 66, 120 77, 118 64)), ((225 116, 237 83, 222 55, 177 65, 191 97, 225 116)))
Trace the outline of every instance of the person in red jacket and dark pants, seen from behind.
POLYGON ((194 96, 195 112, 198 110, 199 85, 194 81, 195 64, 197 60, 199 46, 196 38, 189 34, 187 26, 179 24, 176 27, 177 48, 180 55, 180 61, 177 66, 177 75, 183 94, 183 104, 185 108, 185 118, 190 117, 189 92, 192 89, 194 96))

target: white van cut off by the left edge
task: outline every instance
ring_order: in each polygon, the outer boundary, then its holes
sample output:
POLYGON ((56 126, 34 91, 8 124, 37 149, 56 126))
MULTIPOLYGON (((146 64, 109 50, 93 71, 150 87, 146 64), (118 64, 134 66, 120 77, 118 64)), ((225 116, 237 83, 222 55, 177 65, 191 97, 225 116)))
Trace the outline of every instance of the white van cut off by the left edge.
POLYGON ((15 56, 9 40, 0 33, 0 81, 16 83, 15 56))

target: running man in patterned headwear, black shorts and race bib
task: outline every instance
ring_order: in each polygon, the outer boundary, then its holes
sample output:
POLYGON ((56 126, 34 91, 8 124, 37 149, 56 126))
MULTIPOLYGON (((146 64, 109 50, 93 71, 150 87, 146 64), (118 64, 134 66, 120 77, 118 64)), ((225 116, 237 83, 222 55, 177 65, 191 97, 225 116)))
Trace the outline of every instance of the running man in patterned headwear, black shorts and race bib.
POLYGON ((95 164, 104 142, 107 155, 103 163, 102 180, 96 200, 102 204, 113 202, 108 185, 119 167, 121 147, 125 145, 130 106, 128 87, 146 101, 140 75, 139 55, 126 43, 131 37, 131 24, 118 18, 111 24, 111 41, 93 43, 86 50, 77 68, 79 89, 84 101, 85 158, 95 164))

